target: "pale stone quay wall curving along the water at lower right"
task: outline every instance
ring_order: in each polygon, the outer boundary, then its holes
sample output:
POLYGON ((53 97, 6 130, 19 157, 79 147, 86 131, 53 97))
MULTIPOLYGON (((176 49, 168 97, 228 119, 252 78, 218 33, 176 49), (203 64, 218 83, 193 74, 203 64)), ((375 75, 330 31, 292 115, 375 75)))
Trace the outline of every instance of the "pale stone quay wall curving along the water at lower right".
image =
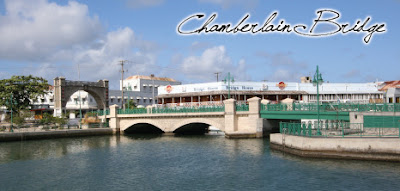
POLYGON ((400 162, 400 138, 270 135, 271 149, 302 157, 400 162))

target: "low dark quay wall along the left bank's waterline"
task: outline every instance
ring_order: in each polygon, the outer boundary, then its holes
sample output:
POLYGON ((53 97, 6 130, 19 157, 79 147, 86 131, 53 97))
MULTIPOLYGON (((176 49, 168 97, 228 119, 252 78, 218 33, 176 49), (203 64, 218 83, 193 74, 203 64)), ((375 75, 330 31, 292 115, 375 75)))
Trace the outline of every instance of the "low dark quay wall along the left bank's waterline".
POLYGON ((69 129, 69 130, 48 130, 48 131, 30 131, 30 132, 14 132, 0 133, 0 142, 7 141, 23 141, 37 139, 54 139, 67 137, 84 137, 98 135, 112 135, 114 131, 110 128, 95 129, 69 129))

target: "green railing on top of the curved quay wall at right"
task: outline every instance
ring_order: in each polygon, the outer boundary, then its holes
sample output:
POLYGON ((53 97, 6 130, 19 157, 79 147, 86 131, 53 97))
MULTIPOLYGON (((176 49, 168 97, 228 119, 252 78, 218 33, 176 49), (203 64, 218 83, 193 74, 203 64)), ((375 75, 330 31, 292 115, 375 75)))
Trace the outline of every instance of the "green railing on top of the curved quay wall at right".
POLYGON ((399 137, 400 123, 392 126, 366 126, 363 123, 324 122, 292 123, 280 122, 279 131, 286 135, 304 137, 399 137))

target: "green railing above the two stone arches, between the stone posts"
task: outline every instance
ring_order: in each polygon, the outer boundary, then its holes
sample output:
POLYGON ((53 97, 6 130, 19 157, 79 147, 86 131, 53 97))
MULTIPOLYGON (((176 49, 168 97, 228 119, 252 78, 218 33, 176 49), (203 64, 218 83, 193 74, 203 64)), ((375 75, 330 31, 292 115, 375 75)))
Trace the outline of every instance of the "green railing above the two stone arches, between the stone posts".
POLYGON ((225 106, 152 108, 152 113, 196 113, 196 112, 224 112, 224 111, 225 111, 225 106))

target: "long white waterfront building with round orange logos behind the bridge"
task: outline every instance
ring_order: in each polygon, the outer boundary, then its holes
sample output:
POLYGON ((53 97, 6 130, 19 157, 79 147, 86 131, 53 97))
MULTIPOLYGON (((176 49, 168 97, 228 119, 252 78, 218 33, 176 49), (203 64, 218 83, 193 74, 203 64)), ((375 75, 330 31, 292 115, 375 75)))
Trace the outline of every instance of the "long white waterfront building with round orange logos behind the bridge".
MULTIPOLYGON (((279 103, 286 98, 297 102, 317 102, 317 89, 310 80, 297 82, 224 82, 169 85, 158 88, 159 105, 214 104, 228 97, 239 102, 257 96, 268 102, 279 103)), ((322 83, 319 86, 322 103, 374 103, 382 102, 381 83, 322 83)))

